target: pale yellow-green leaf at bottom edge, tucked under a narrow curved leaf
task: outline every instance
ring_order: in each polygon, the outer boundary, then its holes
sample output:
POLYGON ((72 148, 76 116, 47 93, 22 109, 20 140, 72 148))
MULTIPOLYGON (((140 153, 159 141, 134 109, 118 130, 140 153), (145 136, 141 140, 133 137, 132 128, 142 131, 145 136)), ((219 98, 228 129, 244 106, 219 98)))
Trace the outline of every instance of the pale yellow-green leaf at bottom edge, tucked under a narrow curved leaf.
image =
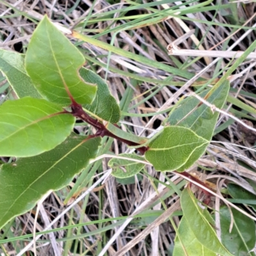
POLYGON ((195 237, 186 218, 182 218, 174 241, 173 256, 216 256, 216 253, 203 246, 195 237))

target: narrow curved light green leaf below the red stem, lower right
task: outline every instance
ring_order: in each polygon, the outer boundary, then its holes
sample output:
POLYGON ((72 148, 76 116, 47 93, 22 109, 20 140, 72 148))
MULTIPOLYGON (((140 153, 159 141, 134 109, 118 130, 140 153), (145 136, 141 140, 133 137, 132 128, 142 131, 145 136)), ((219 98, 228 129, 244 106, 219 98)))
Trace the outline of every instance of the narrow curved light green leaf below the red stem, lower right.
POLYGON ((189 227, 203 246, 220 255, 231 255, 216 236, 207 209, 202 209, 203 205, 195 198, 189 188, 182 191, 180 205, 189 227))

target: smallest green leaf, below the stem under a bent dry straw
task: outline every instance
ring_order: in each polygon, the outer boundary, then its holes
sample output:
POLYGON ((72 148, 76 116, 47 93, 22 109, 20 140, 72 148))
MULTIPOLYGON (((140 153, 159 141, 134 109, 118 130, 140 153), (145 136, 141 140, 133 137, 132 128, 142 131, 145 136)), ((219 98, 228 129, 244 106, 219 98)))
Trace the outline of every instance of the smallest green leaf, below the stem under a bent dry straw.
MULTIPOLYGON (((138 159, 145 161, 141 156, 134 154, 119 154, 118 156, 129 157, 132 159, 138 159)), ((112 168, 113 172, 111 173, 114 177, 124 179, 132 177, 140 172, 140 170, 145 166, 143 163, 138 163, 132 160, 112 158, 108 162, 108 166, 112 168)))

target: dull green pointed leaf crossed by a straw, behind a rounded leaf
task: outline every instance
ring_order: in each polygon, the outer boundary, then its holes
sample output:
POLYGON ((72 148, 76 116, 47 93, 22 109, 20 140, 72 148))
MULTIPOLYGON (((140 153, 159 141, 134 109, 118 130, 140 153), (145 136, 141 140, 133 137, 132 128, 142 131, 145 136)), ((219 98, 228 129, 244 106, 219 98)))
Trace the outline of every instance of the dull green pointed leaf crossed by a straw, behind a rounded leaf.
MULTIPOLYGON (((221 109, 227 99, 228 90, 229 82, 225 81, 209 95, 207 102, 221 109)), ((209 92, 210 89, 198 95, 204 98, 209 92)), ((212 109, 205 104, 201 106, 198 104, 200 104, 200 100, 193 96, 184 99, 179 108, 170 114, 166 123, 187 127, 205 140, 211 140, 219 113, 217 111, 212 112, 212 109)))

